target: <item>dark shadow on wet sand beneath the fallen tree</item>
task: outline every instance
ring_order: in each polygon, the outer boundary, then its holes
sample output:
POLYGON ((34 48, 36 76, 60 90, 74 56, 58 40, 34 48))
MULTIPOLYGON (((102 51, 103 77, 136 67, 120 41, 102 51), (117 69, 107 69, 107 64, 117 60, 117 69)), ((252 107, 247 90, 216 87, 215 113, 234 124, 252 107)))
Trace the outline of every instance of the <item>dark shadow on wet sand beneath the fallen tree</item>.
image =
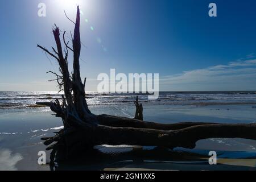
MULTIPOLYGON (((58 156, 56 156, 57 158, 58 156)), ((255 170, 253 167, 226 164, 209 165, 209 156, 156 147, 135 148, 130 152, 106 154, 96 149, 80 152, 65 162, 55 162, 51 170, 103 171, 115 169, 153 170, 255 170)))

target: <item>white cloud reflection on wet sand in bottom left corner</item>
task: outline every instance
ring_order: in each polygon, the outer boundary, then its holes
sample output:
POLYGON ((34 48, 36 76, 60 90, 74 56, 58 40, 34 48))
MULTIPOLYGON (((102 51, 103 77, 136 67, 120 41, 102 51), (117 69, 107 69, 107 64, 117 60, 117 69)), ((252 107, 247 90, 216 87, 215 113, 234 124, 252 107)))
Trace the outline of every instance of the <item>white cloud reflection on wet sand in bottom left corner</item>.
POLYGON ((15 165, 22 159, 23 157, 19 153, 12 154, 8 149, 0 148, 0 171, 17 170, 15 165))

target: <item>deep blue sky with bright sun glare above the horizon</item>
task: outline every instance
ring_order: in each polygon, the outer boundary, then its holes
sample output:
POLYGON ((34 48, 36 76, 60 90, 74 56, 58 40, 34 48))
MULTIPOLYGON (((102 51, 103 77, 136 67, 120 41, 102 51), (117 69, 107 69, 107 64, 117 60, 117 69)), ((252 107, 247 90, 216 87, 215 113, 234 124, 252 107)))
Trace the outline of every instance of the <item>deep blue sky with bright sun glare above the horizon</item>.
MULTIPOLYGON (((63 9, 74 19, 76 6, 54 1, 0 1, 0 90, 56 90, 46 72, 57 64, 36 44, 55 45, 54 23, 73 31, 63 9), (46 3, 46 17, 38 17, 39 2, 46 3)), ((83 2, 81 72, 87 90, 96 90, 97 75, 110 68, 159 73, 160 90, 256 90, 256 1, 83 2), (208 16, 210 2, 217 4, 217 17, 208 16)))

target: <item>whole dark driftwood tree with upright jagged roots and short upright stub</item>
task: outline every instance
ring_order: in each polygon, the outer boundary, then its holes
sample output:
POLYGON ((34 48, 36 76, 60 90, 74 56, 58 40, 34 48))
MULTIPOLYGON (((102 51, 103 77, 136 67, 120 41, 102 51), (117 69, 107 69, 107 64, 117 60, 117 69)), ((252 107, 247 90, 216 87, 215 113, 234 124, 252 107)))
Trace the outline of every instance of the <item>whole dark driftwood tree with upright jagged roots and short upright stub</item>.
POLYGON ((163 146, 193 148, 197 140, 207 138, 245 138, 256 139, 256 124, 218 124, 185 122, 174 124, 160 124, 143 120, 142 105, 138 98, 135 101, 135 119, 115 117, 112 115, 94 115, 86 103, 85 83, 80 77, 80 10, 77 7, 75 31, 72 47, 65 40, 60 40, 60 30, 53 29, 56 48, 52 52, 39 46, 59 63, 60 75, 56 76, 60 91, 64 91, 62 101, 38 103, 47 105, 63 121, 64 129, 54 137, 42 138, 47 150, 52 150, 51 159, 55 153, 62 151, 65 157, 72 151, 82 147, 92 147, 98 144, 131 144, 138 146, 163 146), (63 48, 64 45, 64 48, 63 48), (73 53, 73 72, 68 69, 68 53, 73 53))

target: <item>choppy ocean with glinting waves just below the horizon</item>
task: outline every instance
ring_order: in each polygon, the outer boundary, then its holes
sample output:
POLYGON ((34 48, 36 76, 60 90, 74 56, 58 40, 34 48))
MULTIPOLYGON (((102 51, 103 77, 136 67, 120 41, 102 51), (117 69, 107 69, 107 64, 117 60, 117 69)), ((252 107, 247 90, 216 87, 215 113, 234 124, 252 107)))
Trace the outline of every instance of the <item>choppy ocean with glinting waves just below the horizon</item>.
MULTIPOLYGON (((143 105, 256 105, 256 91, 243 92, 159 92, 157 100, 148 100, 147 94, 100 94, 87 92, 89 106, 133 105, 136 96, 143 105)), ((61 99, 57 92, 0 92, 0 109, 24 109, 36 102, 61 99)))

